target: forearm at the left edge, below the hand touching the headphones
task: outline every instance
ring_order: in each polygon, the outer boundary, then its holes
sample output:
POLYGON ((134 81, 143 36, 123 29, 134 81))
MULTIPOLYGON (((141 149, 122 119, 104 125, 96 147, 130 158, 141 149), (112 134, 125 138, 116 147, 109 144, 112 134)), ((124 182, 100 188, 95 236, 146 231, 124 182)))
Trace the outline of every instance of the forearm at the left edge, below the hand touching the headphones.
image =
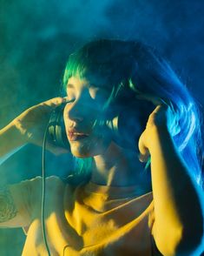
POLYGON ((0 162, 26 144, 20 131, 12 122, 0 130, 0 162))

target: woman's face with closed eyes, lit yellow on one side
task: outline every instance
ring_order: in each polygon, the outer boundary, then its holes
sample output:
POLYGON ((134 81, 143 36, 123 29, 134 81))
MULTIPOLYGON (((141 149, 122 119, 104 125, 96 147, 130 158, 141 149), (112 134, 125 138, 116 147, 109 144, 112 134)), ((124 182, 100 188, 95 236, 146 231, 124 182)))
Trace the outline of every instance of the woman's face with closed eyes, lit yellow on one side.
POLYGON ((63 112, 66 134, 72 154, 77 158, 93 157, 108 148, 111 138, 108 128, 95 125, 102 117, 102 106, 109 98, 109 90, 92 84, 86 78, 70 77, 63 112))

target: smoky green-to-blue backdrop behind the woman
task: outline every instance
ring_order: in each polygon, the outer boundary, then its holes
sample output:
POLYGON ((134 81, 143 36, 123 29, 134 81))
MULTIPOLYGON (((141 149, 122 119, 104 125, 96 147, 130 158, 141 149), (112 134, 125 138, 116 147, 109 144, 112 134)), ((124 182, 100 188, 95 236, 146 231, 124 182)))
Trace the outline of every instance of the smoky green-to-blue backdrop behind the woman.
MULTIPOLYGON (((203 115, 203 13, 200 0, 0 0, 0 128, 28 107, 59 96, 69 54, 102 37, 155 47, 203 115)), ((46 163, 47 175, 63 177, 72 158, 48 152, 46 163)), ((25 145, 0 166, 0 184, 41 175, 41 166, 42 149, 25 145)), ((24 239, 21 228, 1 229, 0 255, 21 255, 24 239)))

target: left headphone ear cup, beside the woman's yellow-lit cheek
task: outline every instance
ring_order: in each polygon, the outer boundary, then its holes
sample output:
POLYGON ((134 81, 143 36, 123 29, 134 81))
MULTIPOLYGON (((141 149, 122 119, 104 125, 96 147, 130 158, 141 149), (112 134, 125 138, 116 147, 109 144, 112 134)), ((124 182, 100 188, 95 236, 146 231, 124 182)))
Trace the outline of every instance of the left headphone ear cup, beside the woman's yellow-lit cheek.
POLYGON ((68 149, 70 151, 69 141, 65 131, 65 125, 63 121, 63 109, 65 104, 57 106, 52 111, 49 118, 49 138, 56 146, 68 149))

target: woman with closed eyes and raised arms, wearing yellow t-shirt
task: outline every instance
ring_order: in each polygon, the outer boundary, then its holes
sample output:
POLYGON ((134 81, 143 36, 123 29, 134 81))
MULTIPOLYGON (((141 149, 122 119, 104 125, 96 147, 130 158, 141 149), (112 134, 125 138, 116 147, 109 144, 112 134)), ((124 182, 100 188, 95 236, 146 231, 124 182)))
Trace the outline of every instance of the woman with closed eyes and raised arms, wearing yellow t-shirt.
POLYGON ((67 183, 46 179, 44 241, 42 179, 2 191, 1 226, 23 226, 23 255, 200 255, 199 111, 168 63, 145 44, 99 40, 70 55, 63 85, 64 98, 31 107, 1 131, 2 157, 27 142, 43 145, 50 113, 65 104, 78 164, 67 183))

